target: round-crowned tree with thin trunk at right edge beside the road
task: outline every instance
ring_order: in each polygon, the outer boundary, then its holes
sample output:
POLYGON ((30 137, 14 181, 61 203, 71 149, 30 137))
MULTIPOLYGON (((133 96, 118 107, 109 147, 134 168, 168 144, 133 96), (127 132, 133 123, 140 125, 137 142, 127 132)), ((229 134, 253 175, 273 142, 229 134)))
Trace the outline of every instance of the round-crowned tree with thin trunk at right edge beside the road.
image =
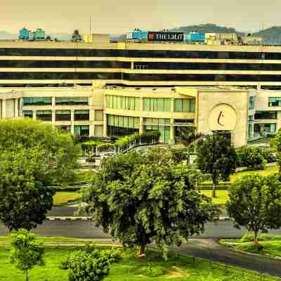
POLYGON ((235 181, 229 190, 226 209, 235 227, 244 226, 254 232, 254 242, 258 244, 260 230, 281 227, 281 187, 277 175, 254 174, 235 181))

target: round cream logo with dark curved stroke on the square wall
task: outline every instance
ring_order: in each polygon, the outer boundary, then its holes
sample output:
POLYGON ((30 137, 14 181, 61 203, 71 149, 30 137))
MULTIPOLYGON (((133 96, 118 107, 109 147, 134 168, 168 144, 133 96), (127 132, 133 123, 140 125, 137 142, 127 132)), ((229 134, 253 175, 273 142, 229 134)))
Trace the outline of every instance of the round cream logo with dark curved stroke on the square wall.
POLYGON ((237 121, 236 112, 230 105, 216 105, 209 114, 211 131, 233 131, 237 121))

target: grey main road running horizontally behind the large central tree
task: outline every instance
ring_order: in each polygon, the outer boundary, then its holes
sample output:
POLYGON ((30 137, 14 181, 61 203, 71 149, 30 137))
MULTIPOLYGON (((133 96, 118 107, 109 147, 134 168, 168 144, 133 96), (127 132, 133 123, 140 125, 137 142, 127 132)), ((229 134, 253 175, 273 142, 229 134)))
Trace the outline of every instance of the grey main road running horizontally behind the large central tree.
MULTIPOLYGON (((109 235, 103 233, 100 228, 93 226, 92 221, 45 221, 39 226, 35 233, 41 236, 65 236, 77 238, 108 238, 109 235)), ((218 221, 218 223, 207 223, 206 231, 201 238, 219 237, 240 237, 244 230, 233 228, 230 221, 218 221)), ((273 230, 270 233, 281 235, 280 230, 273 230)), ((0 235, 8 235, 8 230, 0 225, 0 235)))

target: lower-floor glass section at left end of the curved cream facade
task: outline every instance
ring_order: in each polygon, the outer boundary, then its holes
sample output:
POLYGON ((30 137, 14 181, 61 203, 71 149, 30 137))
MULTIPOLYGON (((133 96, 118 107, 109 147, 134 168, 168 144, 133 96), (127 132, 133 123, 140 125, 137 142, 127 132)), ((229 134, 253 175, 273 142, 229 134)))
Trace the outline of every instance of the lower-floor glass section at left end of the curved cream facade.
POLYGON ((138 133, 139 123, 138 117, 107 115, 107 135, 125 136, 138 133))

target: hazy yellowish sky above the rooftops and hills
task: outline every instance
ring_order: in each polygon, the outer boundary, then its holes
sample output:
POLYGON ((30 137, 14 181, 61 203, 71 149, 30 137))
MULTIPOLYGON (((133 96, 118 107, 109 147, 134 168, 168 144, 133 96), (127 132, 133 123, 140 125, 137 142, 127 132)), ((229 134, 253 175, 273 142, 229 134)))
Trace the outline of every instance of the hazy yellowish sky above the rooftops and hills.
POLYGON ((143 30, 216 23, 241 31, 281 25, 280 0, 0 0, 0 30, 41 27, 46 33, 79 29, 120 34, 143 30))

